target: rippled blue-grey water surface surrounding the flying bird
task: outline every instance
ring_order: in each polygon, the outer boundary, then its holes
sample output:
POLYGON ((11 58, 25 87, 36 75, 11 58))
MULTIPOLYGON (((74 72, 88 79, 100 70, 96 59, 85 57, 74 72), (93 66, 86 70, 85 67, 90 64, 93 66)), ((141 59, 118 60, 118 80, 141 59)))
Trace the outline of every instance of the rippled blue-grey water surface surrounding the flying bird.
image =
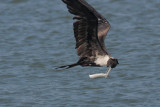
POLYGON ((159 107, 160 1, 87 0, 112 28, 107 68, 55 66, 78 60, 72 15, 61 0, 0 0, 1 107, 159 107))

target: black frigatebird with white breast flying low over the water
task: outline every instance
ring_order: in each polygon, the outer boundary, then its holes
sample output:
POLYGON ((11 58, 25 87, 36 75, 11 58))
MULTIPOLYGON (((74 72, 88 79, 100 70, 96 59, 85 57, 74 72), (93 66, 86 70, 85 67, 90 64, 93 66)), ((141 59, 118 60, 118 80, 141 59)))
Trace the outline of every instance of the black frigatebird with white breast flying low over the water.
POLYGON ((58 68, 80 66, 107 66, 110 72, 115 68, 118 59, 111 56, 105 47, 105 37, 110 29, 109 22, 85 0, 62 0, 68 11, 74 15, 74 37, 79 60, 71 65, 58 68))

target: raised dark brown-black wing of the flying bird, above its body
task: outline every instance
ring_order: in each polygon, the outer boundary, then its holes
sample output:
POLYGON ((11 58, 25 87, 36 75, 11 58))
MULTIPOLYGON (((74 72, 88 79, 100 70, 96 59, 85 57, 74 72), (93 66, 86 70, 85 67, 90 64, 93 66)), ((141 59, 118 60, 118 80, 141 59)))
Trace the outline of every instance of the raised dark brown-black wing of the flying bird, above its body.
POLYGON ((74 14, 74 36, 77 54, 81 57, 106 55, 104 39, 109 23, 84 0, 62 0, 74 14))

